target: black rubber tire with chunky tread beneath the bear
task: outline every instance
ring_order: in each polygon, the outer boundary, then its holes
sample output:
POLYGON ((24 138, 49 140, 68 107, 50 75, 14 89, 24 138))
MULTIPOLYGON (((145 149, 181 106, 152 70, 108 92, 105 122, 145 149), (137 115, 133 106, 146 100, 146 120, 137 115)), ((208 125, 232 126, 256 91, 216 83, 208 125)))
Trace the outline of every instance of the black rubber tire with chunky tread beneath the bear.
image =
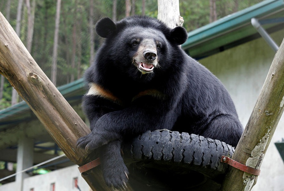
MULTIPOLYGON (((189 183, 190 185, 194 183, 196 183, 195 186, 207 184, 210 190, 218 190, 228 167, 228 164, 220 162, 221 156, 232 157, 234 147, 225 142, 204 138, 195 134, 189 135, 184 132, 180 134, 176 131, 159 130, 145 132, 137 138, 125 142, 122 152, 124 153, 126 164, 128 167, 131 166, 131 168, 135 169, 133 171, 135 173, 139 169, 146 168, 147 170, 142 173, 149 173, 151 169, 154 169, 153 171, 155 169, 166 169, 160 174, 153 176, 156 178, 168 171, 172 171, 170 176, 176 172, 180 174, 191 171, 189 179, 202 174, 204 180, 200 182, 194 180, 192 181, 193 183, 189 183), (192 172, 196 173, 192 174, 192 172), (214 186, 212 187, 212 185, 215 183, 217 184, 216 189, 213 189, 214 186)), ((146 178, 145 180, 148 179, 146 178)), ((136 177, 136 182, 137 180, 141 182, 138 176, 136 177)), ((195 188, 196 190, 201 188, 206 190, 207 187, 199 186, 195 188)), ((166 189, 161 188, 161 190, 166 189)), ((190 190, 194 189, 191 188, 190 190)))

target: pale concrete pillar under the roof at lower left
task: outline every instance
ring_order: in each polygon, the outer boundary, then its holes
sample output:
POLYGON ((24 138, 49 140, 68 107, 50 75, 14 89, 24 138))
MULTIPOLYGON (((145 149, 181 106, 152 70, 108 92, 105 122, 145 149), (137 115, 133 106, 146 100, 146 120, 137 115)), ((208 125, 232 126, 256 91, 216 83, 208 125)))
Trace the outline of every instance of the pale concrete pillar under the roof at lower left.
MULTIPOLYGON (((17 150, 17 169, 16 172, 20 172, 33 166, 34 159, 34 140, 29 139, 25 136, 21 137, 18 142, 18 150, 17 150)), ((23 190, 23 180, 24 178, 29 177, 26 172, 20 173, 16 175, 16 183, 18 191, 23 190)))

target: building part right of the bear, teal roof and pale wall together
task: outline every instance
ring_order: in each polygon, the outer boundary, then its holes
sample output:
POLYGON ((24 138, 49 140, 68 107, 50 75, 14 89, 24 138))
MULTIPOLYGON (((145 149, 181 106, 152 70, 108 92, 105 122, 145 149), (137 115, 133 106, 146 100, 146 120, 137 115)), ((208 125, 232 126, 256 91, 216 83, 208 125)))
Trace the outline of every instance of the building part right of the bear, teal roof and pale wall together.
MULTIPOLYGON (((275 55, 275 47, 251 24, 256 18, 280 46, 284 38, 283 1, 263 1, 188 33, 183 48, 228 89, 245 127, 275 55)), ((283 191, 284 163, 275 143, 284 138, 279 121, 252 190, 283 191)), ((284 144, 284 143, 283 143, 284 144)), ((283 148, 283 147, 282 147, 283 148)))

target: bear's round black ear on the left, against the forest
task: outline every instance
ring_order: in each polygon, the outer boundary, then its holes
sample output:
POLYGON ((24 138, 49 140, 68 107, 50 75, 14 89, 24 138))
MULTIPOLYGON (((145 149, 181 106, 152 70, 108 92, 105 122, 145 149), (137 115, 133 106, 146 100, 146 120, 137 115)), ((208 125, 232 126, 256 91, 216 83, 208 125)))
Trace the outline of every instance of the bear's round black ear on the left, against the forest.
POLYGON ((96 23, 96 33, 103 38, 107 38, 115 29, 115 23, 108 17, 102 18, 96 23))

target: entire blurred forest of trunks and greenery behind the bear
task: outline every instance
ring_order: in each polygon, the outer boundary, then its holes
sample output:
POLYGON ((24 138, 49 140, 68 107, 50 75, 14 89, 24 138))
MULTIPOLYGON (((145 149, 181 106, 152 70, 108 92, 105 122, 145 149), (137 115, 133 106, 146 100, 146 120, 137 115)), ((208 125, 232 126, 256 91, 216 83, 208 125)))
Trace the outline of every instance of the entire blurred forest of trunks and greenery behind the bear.
MULTIPOLYGON (((165 0, 166 1, 166 0, 165 0)), ((183 26, 192 31, 261 0, 179 0, 183 26)), ((129 15, 157 18, 157 0, 0 0, 9 21, 39 67, 56 86, 80 79, 104 41, 95 31, 103 17, 129 15)), ((0 78, 0 110, 21 101, 0 78)))

